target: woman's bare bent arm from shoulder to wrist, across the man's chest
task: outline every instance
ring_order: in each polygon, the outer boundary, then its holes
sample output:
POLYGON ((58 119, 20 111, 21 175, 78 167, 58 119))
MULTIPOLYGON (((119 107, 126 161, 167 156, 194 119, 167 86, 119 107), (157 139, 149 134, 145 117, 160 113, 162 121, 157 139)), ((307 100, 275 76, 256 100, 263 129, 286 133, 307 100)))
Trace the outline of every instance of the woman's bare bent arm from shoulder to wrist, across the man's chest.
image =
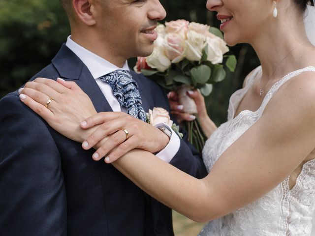
POLYGON ((154 198, 195 221, 213 220, 243 207, 275 188, 315 148, 314 79, 301 79, 303 84, 294 78, 274 95, 263 116, 225 150, 204 179, 141 150, 113 165, 154 198))

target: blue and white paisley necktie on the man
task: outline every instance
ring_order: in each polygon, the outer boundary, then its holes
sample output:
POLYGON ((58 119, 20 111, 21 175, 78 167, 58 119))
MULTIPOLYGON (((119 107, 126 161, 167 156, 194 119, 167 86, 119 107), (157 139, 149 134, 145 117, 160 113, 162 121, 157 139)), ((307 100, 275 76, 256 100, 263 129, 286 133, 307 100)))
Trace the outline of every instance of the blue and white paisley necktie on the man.
POLYGON ((138 85, 129 71, 115 70, 99 79, 109 84, 119 104, 127 109, 130 116, 146 121, 138 85))

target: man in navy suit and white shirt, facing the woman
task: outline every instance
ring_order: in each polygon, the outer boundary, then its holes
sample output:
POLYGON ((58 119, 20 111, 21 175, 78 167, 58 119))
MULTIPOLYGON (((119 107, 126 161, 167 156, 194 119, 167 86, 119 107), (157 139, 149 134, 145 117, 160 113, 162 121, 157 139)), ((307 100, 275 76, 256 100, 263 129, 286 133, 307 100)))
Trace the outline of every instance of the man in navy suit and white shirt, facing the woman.
MULTIPOLYGON (((125 111, 100 80, 126 60, 153 51, 158 0, 61 0, 71 36, 52 63, 36 74, 74 81, 97 112, 125 111)), ((58 35, 54 35, 57 37, 58 35)), ((160 87, 130 71, 145 111, 169 110, 160 87)), ((171 236, 171 209, 149 197, 93 151, 71 141, 33 113, 18 92, 0 101, 0 234, 3 236, 171 236)), ((166 135, 156 129, 150 135, 166 135)), ((155 137, 155 136, 154 136, 155 137)), ((201 157, 175 133, 159 158, 195 177, 206 175, 201 157)))

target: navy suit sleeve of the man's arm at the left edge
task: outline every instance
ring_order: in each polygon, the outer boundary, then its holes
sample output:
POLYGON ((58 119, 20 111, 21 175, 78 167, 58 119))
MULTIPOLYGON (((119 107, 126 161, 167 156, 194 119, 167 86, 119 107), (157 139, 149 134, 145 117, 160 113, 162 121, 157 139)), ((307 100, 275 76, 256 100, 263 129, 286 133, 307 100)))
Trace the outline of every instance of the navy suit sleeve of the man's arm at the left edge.
POLYGON ((5 236, 66 235, 59 150, 46 123, 17 93, 0 100, 0 232, 5 236))

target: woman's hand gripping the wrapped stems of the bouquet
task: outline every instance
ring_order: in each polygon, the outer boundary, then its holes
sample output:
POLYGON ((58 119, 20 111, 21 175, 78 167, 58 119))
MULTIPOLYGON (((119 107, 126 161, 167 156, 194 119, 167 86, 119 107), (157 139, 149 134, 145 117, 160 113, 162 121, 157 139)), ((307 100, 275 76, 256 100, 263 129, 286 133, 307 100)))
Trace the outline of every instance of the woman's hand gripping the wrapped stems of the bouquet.
MULTIPOLYGON (((205 135, 209 138, 213 131, 217 129, 217 126, 208 116, 204 97, 196 89, 188 91, 187 95, 194 100, 201 127, 205 135)), ((172 114, 179 122, 183 120, 191 121, 195 119, 193 115, 184 112, 183 105, 179 104, 178 95, 176 92, 170 92, 168 94, 168 99, 170 100, 172 114)))

